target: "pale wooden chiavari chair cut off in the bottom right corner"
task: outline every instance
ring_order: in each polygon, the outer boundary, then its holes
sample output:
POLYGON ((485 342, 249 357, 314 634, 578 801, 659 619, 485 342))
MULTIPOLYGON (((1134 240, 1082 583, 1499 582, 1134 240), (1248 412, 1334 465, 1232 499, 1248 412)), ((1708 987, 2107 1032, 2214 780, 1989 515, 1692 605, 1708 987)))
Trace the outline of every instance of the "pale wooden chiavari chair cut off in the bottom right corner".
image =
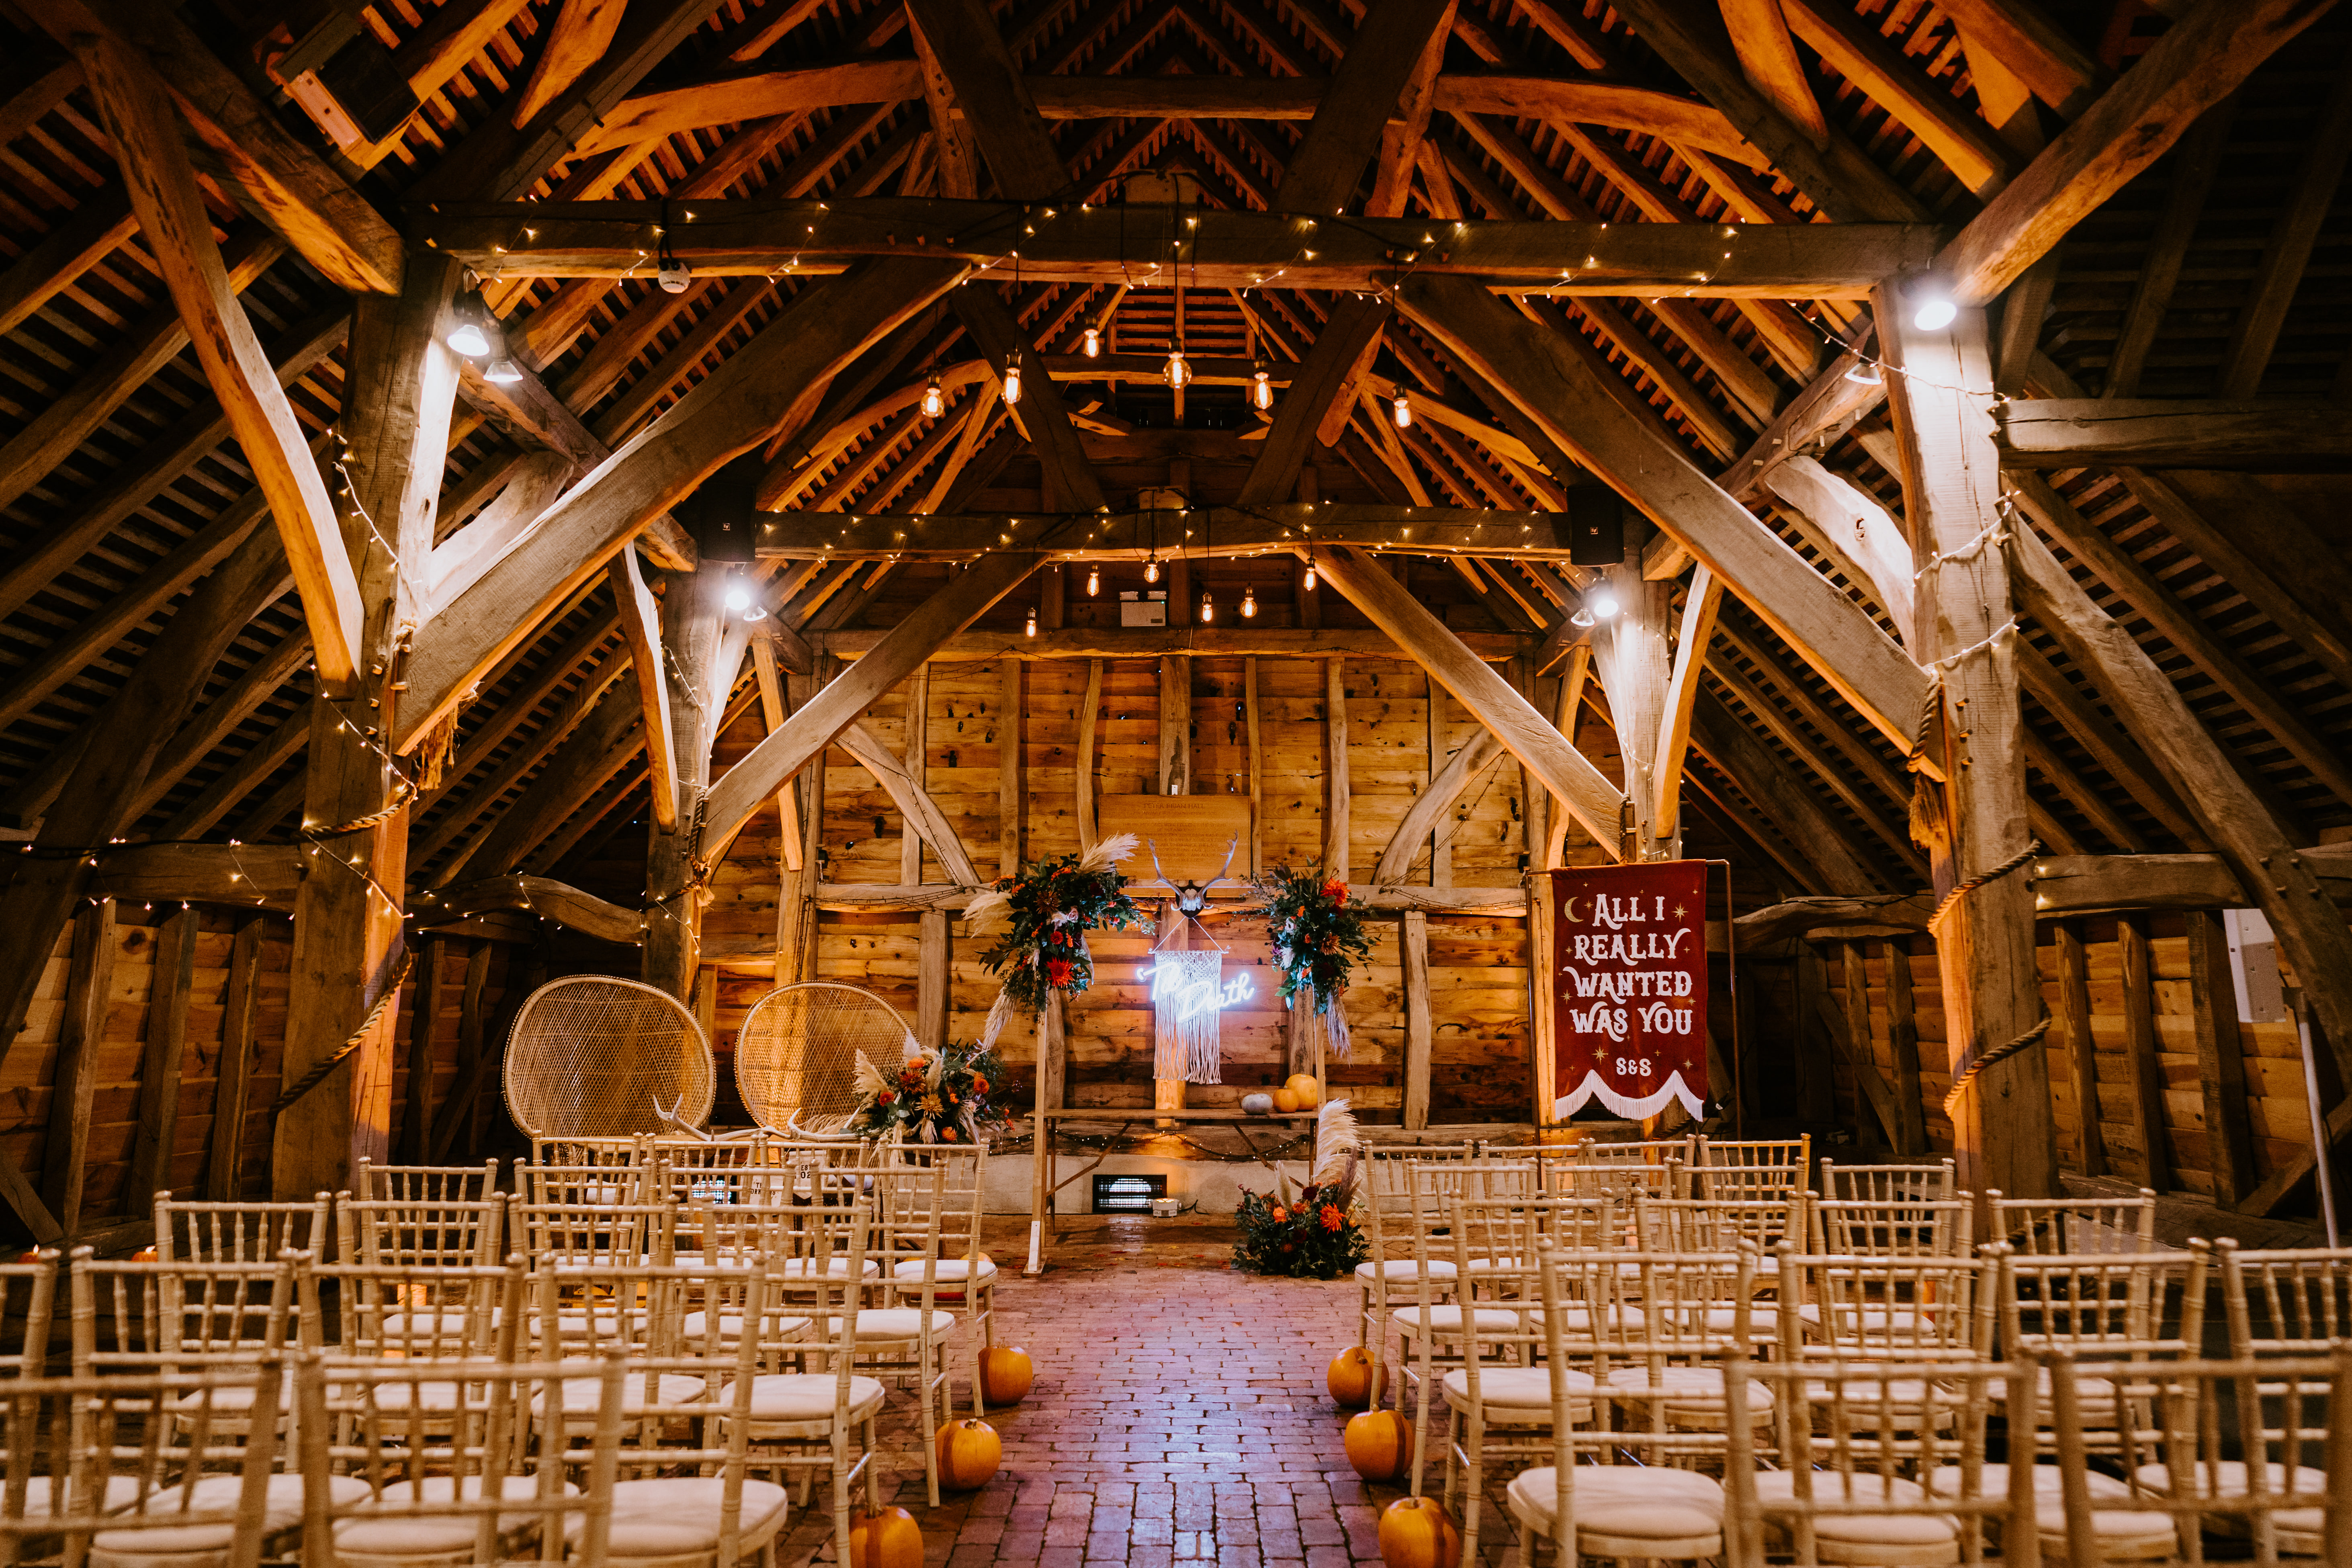
POLYGON ((2056 1352, 2042 1359, 2067 1488, 2070 1563, 2098 1561, 2096 1526, 2110 1516, 2169 1526, 2171 1561, 2206 1561, 2209 1535, 2230 1542, 2218 1556, 2265 1566, 2352 1559, 2352 1347, 2328 1356, 2114 1366, 2056 1352), (2131 1493, 2093 1502, 2086 1476, 2105 1434, 2089 1389, 2100 1382, 2129 1385, 2152 1422, 2124 1434, 2131 1493))

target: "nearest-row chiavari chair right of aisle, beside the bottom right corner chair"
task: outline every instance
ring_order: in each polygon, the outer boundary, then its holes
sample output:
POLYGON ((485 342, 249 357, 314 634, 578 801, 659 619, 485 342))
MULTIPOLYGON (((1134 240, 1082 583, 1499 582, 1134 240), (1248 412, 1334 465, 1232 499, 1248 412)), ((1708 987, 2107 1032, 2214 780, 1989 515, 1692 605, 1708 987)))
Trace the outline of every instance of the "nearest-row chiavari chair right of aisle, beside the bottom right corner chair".
MULTIPOLYGON (((1726 1387, 1769 1396, 1780 1469, 1759 1469, 1752 1434, 1733 1427, 1724 1460, 1731 1523, 1726 1568, 1766 1552, 1816 1563, 1943 1568, 1997 1556, 1997 1530, 2039 1542, 2032 1425, 2011 1465, 1987 1462, 1990 1418, 2032 1399, 2030 1371, 1994 1361, 1726 1363, 1726 1387), (1933 1483, 1929 1481, 1933 1476, 1933 1483)), ((2056 1512, 2056 1509, 2051 1509, 2056 1512)), ((2009 1561, 2032 1554, 2009 1552, 2009 1561)))

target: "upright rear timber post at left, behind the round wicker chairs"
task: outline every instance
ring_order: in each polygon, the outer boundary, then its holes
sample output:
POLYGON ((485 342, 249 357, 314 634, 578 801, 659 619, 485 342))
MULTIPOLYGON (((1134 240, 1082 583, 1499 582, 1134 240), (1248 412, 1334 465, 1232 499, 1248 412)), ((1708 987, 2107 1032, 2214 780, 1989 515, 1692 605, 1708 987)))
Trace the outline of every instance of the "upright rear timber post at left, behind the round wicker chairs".
MULTIPOLYGON (((628 550, 623 550, 628 555, 628 550)), ((661 679, 668 686, 668 757, 677 766, 677 820, 659 820, 644 842, 644 957, 640 976, 677 999, 701 969, 703 907, 710 889, 696 863, 724 851, 741 823, 706 830, 701 802, 710 790, 710 743, 727 705, 734 670, 720 670, 720 632, 727 625, 727 569, 706 567, 670 576, 661 602, 661 679)), ((626 621, 626 616, 623 616, 626 621)), ((736 651, 741 658, 741 649, 736 651)), ((659 766, 654 748, 649 762, 659 766)), ((656 790, 661 783, 656 780, 656 790)), ((764 804, 764 802, 760 802, 764 804)), ((757 809, 757 806, 755 806, 757 809)))

